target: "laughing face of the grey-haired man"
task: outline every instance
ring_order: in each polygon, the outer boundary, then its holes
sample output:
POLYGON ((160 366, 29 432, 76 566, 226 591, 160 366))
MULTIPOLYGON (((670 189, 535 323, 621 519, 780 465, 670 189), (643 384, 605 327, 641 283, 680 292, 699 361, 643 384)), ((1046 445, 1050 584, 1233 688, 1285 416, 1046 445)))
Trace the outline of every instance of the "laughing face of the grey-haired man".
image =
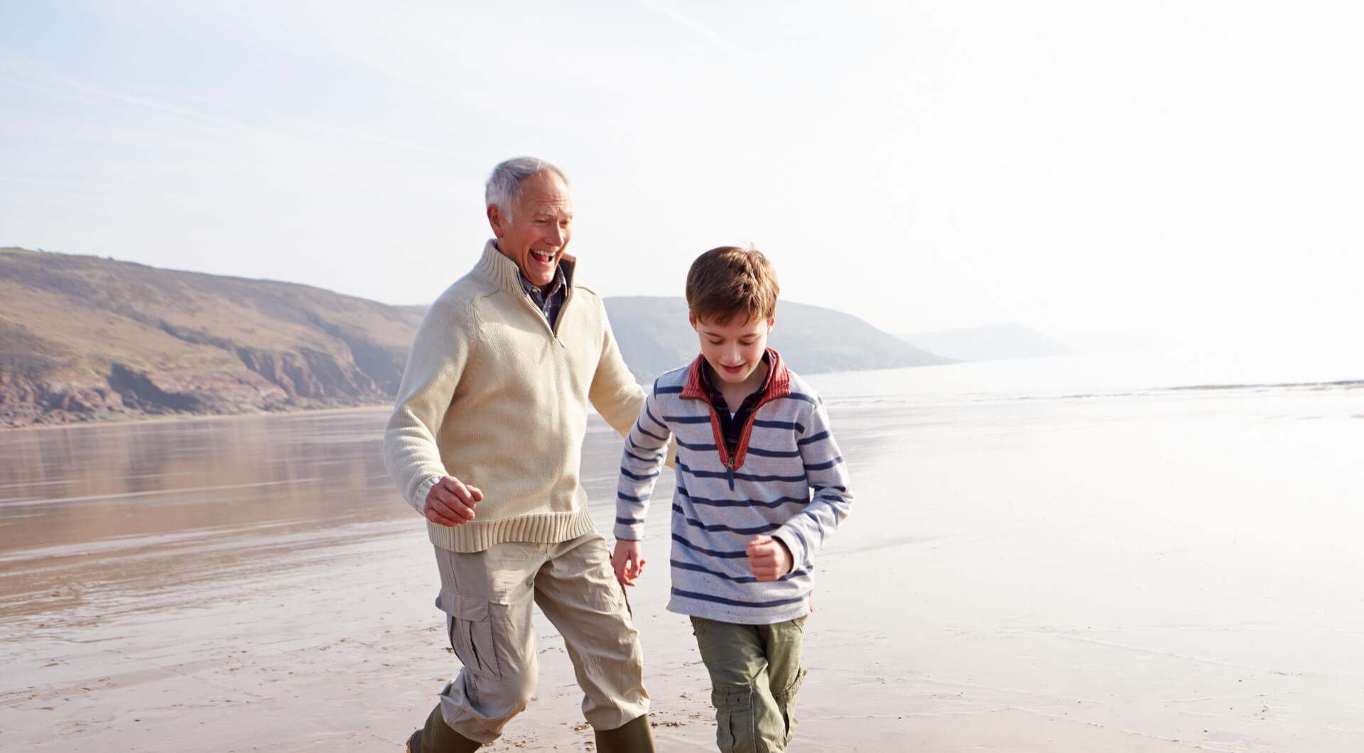
POLYGON ((488 207, 488 224, 498 239, 498 251, 516 262, 521 276, 544 288, 554 282, 554 269, 569 246, 573 228, 573 198, 563 179, 542 171, 521 181, 521 199, 512 218, 498 206, 488 207))

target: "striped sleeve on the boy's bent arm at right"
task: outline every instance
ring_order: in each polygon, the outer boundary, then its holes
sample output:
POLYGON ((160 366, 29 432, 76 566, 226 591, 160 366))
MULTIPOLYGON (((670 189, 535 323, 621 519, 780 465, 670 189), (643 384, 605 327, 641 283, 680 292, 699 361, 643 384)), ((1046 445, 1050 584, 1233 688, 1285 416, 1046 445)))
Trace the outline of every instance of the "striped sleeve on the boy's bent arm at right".
POLYGON ((839 445, 829 431, 829 415, 824 401, 814 398, 814 409, 797 438, 805 477, 813 494, 801 514, 786 521, 772 536, 791 550, 792 570, 814 566, 814 552, 833 535, 839 522, 848 516, 853 492, 848 491, 848 472, 839 453, 839 445))

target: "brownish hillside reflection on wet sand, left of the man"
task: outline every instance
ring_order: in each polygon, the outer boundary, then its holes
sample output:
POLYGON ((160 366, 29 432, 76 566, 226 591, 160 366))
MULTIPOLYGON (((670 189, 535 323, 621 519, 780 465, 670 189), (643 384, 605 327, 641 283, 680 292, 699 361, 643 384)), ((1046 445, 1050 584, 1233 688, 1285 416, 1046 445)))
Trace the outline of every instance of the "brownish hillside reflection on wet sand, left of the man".
POLYGON ((79 625, 183 599, 199 578, 248 582, 281 551, 389 532, 408 512, 379 456, 385 415, 0 432, 0 607, 79 625))

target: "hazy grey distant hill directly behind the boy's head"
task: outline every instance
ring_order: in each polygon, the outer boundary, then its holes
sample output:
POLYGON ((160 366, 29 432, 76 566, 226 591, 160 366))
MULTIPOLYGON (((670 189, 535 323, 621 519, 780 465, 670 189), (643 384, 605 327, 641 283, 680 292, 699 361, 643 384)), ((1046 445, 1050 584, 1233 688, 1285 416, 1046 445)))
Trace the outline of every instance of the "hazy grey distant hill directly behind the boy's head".
MULTIPOLYGON (((700 352, 687 323, 686 299, 608 297, 606 310, 621 353, 641 382, 689 363, 700 352)), ((951 363, 850 314, 786 300, 777 301, 768 345, 798 374, 951 363)))

